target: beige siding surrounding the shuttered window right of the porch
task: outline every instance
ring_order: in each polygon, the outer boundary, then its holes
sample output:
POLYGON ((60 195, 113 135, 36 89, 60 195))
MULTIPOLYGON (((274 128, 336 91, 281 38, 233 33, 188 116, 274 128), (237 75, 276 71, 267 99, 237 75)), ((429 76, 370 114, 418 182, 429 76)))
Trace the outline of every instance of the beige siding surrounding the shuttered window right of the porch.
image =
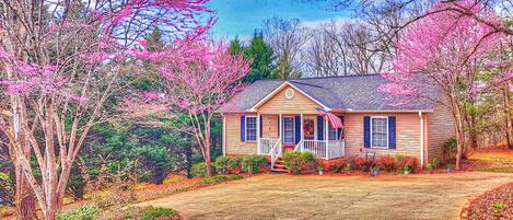
POLYGON ((363 155, 363 152, 376 152, 378 155, 403 154, 420 158, 420 118, 418 113, 354 113, 343 117, 346 131, 346 154, 363 155), (396 116, 396 149, 363 148, 364 116, 396 116))

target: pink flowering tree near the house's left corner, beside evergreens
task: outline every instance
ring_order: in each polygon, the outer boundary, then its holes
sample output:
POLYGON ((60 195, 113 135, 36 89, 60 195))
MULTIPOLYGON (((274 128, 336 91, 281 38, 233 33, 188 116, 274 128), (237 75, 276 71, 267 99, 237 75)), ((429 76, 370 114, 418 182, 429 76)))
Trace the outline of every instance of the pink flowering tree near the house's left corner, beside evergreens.
MULTIPOLYGON (((141 43, 144 45, 144 43, 141 43)), ((156 114, 155 109, 186 114, 190 120, 191 132, 212 175, 210 160, 210 123, 215 111, 225 104, 245 84, 242 79, 249 71, 249 61, 242 56, 232 56, 228 47, 215 40, 203 39, 195 43, 194 48, 177 48, 167 45, 162 51, 136 51, 140 59, 151 61, 159 70, 163 91, 144 92, 144 99, 126 100, 126 109, 152 109, 147 115, 156 114), (175 54, 185 54, 177 60, 175 54), (150 105, 152 107, 141 107, 150 105)), ((140 111, 138 114, 141 116, 140 111)))

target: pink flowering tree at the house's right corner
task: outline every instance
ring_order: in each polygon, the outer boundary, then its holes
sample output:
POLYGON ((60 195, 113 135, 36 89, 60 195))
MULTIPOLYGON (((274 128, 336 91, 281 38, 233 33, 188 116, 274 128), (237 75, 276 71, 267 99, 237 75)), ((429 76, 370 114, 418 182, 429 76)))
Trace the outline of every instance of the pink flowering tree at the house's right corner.
POLYGON ((390 83, 381 88, 384 92, 401 96, 422 96, 421 85, 433 85, 439 91, 436 100, 454 116, 458 142, 456 169, 459 169, 465 142, 465 103, 513 77, 511 60, 493 60, 501 45, 511 40, 486 24, 499 25, 500 21, 480 5, 471 2, 467 5, 474 14, 487 21, 477 21, 452 10, 444 11, 447 4, 438 3, 427 12, 430 15, 410 24, 397 43, 393 62, 395 72, 384 74, 390 83), (483 71, 490 68, 501 71, 493 71, 493 74, 483 71))

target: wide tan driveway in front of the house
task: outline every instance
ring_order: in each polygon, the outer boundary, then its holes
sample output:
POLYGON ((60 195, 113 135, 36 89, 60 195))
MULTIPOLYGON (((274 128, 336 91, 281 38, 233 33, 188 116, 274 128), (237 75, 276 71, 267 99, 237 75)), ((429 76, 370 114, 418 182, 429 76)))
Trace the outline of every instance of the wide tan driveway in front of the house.
POLYGON ((259 175, 140 205, 185 219, 459 219, 468 198, 513 174, 259 175))

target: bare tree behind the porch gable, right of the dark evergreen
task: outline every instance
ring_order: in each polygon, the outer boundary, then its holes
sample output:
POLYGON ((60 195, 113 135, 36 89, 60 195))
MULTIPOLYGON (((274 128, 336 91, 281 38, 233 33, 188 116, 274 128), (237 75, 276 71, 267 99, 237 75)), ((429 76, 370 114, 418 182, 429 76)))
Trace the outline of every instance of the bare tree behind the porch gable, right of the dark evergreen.
POLYGON ((282 79, 301 77, 300 51, 312 34, 301 26, 300 20, 271 18, 264 21, 264 37, 277 55, 278 71, 282 79))

